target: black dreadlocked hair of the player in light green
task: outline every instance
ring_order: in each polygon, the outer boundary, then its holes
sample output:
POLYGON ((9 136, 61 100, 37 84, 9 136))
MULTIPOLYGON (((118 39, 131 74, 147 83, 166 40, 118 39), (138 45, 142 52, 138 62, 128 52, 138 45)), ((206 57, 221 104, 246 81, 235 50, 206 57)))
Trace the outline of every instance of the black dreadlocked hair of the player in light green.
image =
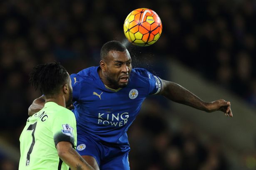
POLYGON ((60 63, 53 62, 33 67, 29 76, 29 82, 35 90, 40 89, 45 96, 52 96, 59 93, 61 86, 67 83, 69 75, 60 63))

